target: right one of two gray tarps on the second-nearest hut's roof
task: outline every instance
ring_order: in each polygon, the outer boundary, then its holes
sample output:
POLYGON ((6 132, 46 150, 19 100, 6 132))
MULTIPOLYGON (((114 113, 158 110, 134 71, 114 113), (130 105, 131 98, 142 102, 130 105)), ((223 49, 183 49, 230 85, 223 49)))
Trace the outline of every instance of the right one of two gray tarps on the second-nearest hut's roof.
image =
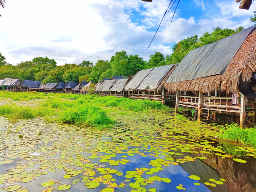
POLYGON ((155 67, 146 78, 141 82, 138 90, 153 89, 157 90, 159 84, 165 78, 166 74, 172 68, 173 65, 155 67))

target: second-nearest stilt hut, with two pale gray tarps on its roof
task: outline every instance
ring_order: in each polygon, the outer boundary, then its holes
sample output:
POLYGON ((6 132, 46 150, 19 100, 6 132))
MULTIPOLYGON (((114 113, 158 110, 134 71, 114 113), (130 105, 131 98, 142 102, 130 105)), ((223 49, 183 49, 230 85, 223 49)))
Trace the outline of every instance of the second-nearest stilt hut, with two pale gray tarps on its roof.
MULTIPOLYGON (((142 70, 136 73, 125 86, 130 99, 150 99, 153 101, 174 100, 174 96, 166 95, 163 84, 177 65, 167 65, 142 70)), ((130 77, 129 77, 130 79, 130 77)))

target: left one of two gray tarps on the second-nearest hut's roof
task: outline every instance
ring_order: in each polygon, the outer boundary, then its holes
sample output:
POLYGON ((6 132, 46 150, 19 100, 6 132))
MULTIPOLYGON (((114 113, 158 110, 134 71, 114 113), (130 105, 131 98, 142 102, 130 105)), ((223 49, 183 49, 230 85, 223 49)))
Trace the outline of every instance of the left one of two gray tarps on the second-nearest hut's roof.
POLYGON ((134 90, 137 89, 137 87, 140 86, 141 82, 148 76, 148 74, 153 70, 152 69, 146 69, 142 70, 136 73, 136 75, 131 79, 130 82, 125 86, 125 90, 134 90))

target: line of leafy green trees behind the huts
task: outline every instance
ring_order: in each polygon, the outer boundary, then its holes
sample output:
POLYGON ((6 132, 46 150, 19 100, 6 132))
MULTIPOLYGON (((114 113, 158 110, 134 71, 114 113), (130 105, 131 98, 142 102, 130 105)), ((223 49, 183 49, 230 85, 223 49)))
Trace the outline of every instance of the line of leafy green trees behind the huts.
MULTIPOLYGON (((254 21, 251 20, 251 22, 254 21)), ((190 50, 221 40, 241 30, 244 30, 244 27, 240 26, 235 30, 213 28, 211 33, 206 32, 201 37, 198 35, 187 37, 174 44, 173 53, 170 55, 155 52, 154 55, 149 56, 149 61, 144 61, 138 55, 127 55, 122 50, 116 52, 109 61, 99 60, 95 64, 90 61, 82 61, 80 64, 57 66, 54 59, 37 57, 32 61, 20 62, 14 66, 7 63, 6 58, 0 52, 0 79, 19 78, 20 80, 42 81, 43 83, 59 81, 93 81, 97 83, 103 78, 111 78, 112 75, 135 75, 139 70, 179 63, 190 50)))

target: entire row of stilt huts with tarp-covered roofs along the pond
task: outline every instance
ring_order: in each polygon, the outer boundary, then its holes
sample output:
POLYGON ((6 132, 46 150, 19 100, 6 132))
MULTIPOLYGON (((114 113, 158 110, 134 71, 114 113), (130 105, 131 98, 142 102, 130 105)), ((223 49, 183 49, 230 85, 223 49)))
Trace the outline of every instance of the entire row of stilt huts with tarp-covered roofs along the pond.
MULTIPOLYGON (((90 82, 92 84, 92 82, 90 82)), ((58 82, 19 82, 4 79, 4 90, 44 91, 56 93, 85 93, 90 84, 58 82), (20 83, 20 84, 19 84, 20 83), (86 88, 87 86, 87 88, 86 88)), ((218 113, 240 115, 244 124, 246 112, 256 110, 256 26, 222 40, 191 50, 179 64, 141 70, 129 77, 112 76, 95 85, 100 96, 150 99, 197 111, 198 120, 203 111, 208 117, 218 113)), ((208 118, 207 117, 207 118, 208 118)), ((215 117, 214 117, 215 118, 215 117)))

